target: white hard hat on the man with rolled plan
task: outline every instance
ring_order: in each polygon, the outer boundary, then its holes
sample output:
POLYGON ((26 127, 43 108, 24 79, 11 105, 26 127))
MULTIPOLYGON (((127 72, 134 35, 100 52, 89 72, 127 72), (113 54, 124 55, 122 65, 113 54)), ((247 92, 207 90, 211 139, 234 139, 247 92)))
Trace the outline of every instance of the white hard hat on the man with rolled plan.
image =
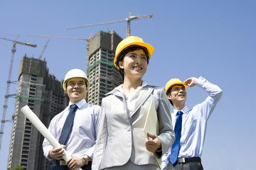
POLYGON ((90 82, 85 74, 81 69, 71 69, 67 74, 65 75, 65 79, 63 82, 63 89, 66 91, 68 80, 73 78, 82 78, 85 79, 85 84, 87 88, 89 89, 90 82))

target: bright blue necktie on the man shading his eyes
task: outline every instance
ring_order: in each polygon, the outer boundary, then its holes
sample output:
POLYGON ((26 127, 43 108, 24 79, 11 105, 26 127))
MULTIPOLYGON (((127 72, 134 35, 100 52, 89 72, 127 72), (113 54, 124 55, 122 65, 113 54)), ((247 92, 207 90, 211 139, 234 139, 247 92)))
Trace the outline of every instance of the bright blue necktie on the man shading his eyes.
POLYGON ((171 157, 170 162, 171 164, 174 164, 178 159, 178 151, 180 149, 180 141, 181 141, 181 125, 182 125, 182 112, 177 112, 178 117, 176 118, 175 123, 175 136, 176 140, 174 141, 174 145, 171 146, 171 157))

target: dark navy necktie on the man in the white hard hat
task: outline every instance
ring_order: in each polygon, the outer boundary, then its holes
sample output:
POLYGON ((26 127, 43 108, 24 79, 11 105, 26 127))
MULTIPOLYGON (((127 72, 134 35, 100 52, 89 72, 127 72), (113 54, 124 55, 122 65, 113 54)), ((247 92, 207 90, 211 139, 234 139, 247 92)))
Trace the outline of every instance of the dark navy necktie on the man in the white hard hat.
POLYGON ((68 143, 68 136, 70 135, 70 132, 73 128, 73 121, 75 118, 75 111, 78 109, 78 106, 75 104, 70 105, 70 113, 68 113, 68 117, 65 120, 63 130, 60 134, 59 143, 60 145, 66 145, 68 143))

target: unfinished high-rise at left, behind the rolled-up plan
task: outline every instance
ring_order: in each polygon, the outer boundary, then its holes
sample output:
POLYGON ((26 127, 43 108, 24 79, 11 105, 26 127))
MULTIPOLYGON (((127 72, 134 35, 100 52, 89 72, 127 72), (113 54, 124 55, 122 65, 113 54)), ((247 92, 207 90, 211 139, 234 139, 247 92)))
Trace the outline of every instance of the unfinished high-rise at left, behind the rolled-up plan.
POLYGON ((11 133, 8 169, 15 165, 24 170, 46 170, 50 162, 43 156, 43 135, 21 113, 28 105, 46 127, 54 115, 68 106, 62 82, 48 73, 46 61, 23 57, 18 73, 18 94, 11 133))

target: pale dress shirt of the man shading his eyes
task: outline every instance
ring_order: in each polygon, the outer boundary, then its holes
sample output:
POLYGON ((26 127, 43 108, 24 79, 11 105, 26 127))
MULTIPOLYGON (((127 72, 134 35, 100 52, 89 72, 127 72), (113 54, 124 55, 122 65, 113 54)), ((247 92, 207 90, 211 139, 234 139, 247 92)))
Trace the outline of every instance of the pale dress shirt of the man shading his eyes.
MULTIPOLYGON (((206 137, 207 120, 211 113, 213 113, 216 104, 223 94, 223 91, 218 86, 211 84, 203 77, 199 77, 196 82, 196 86, 201 87, 208 92, 209 96, 206 98, 206 101, 194 106, 190 110, 186 106, 181 109, 183 115, 178 158, 201 157, 203 143, 206 137)), ((174 109, 174 113, 171 115, 174 127, 177 112, 178 111, 174 109)), ((169 164, 170 155, 171 148, 162 157, 162 169, 169 164)))

